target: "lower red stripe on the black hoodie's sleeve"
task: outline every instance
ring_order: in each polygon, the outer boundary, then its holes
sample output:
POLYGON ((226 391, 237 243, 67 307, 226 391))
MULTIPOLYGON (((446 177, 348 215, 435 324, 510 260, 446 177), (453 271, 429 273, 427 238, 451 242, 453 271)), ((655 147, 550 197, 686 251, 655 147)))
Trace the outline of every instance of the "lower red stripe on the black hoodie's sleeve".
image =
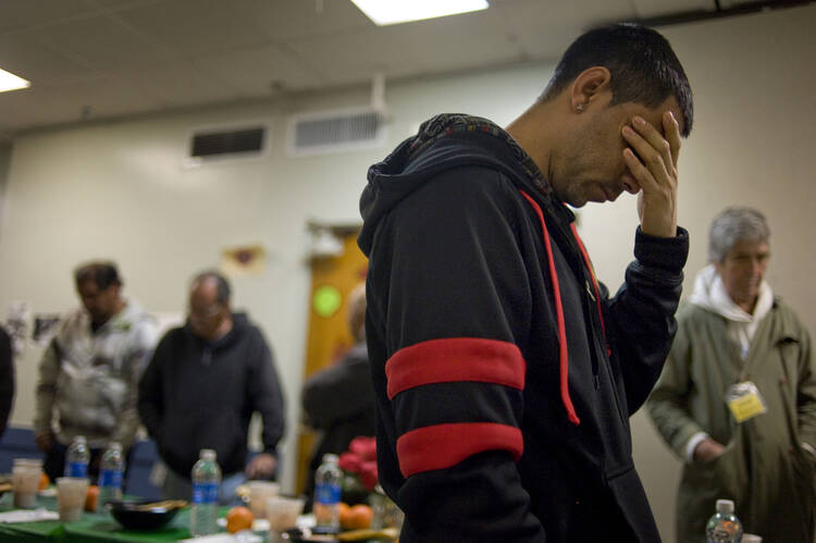
POLYGON ((399 436, 403 477, 456 466, 485 451, 507 451, 518 461, 524 452, 521 430, 495 422, 458 422, 418 428, 399 436))

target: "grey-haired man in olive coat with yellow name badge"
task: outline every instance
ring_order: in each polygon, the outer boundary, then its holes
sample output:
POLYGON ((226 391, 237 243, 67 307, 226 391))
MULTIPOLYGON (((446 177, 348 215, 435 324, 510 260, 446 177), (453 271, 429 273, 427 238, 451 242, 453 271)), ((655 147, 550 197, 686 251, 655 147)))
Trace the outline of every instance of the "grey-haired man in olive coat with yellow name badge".
POLYGON ((647 403, 685 459, 678 543, 703 541, 717 498, 734 501, 745 531, 764 542, 814 541, 816 369, 807 330, 764 280, 769 238, 755 209, 715 218, 710 264, 678 312, 647 403))

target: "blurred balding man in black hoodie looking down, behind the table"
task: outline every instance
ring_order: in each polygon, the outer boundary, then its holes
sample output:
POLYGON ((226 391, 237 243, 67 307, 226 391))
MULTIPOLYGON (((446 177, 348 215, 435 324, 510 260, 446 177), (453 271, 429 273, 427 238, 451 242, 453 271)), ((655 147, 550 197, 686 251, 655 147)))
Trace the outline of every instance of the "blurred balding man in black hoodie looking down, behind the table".
POLYGON ((271 478, 283 436, 283 396, 258 328, 230 308, 230 285, 197 275, 185 326, 168 332, 139 382, 139 416, 168 466, 165 497, 189 498, 190 471, 212 448, 223 472, 222 501, 248 477, 271 478), (252 412, 263 418, 263 452, 247 460, 252 412), (246 466, 246 467, 245 467, 246 466))

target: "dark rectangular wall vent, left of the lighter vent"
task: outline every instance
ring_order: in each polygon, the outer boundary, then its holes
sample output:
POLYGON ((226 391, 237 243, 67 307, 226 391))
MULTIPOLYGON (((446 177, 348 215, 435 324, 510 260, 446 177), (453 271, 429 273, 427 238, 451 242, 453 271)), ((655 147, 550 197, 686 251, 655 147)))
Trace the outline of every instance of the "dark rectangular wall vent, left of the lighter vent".
POLYGON ((255 158, 265 153, 268 126, 264 124, 211 126, 190 135, 189 165, 222 159, 255 158))

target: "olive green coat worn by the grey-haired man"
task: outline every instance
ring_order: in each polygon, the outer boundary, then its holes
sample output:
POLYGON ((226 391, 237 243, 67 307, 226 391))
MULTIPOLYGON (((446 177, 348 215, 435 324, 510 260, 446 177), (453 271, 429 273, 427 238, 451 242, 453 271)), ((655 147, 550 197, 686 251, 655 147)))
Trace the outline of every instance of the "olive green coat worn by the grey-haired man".
POLYGON ((816 446, 816 368, 807 330, 777 298, 743 361, 721 316, 689 304, 678 311, 678 325, 648 412, 682 458, 697 432, 726 445, 708 464, 683 466, 678 543, 704 541, 717 498, 733 499, 745 532, 764 543, 813 543, 816 461, 802 447, 816 446), (756 384, 768 410, 738 424, 725 392, 741 379, 756 384))

